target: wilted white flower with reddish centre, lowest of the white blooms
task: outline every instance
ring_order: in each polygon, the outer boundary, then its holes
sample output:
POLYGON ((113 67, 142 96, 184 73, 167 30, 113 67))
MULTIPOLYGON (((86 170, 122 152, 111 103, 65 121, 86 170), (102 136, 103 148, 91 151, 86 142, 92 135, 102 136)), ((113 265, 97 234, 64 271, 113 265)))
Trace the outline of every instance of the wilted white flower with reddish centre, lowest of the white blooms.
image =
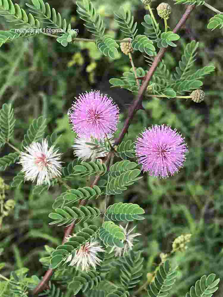
POLYGON ((97 257, 98 252, 105 252, 105 250, 98 245, 98 241, 87 241, 75 251, 74 255, 69 254, 65 263, 71 261, 69 266, 76 265, 76 269, 81 266, 82 271, 88 271, 90 266, 96 268, 96 265, 100 264, 101 260, 97 257))

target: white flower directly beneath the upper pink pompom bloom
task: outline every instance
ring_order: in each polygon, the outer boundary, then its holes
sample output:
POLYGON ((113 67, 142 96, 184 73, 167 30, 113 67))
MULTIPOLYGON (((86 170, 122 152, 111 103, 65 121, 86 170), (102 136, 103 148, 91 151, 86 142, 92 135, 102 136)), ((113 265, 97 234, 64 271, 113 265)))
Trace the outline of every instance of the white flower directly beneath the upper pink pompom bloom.
MULTIPOLYGON (((111 135, 108 135, 108 139, 111 144, 114 143, 114 139, 111 139, 111 135)), ((103 139, 103 141, 106 141, 103 139)), ((82 161, 85 161, 87 159, 91 159, 91 161, 95 161, 96 158, 105 157, 108 153, 103 148, 98 147, 98 149, 92 149, 96 148, 96 146, 91 146, 87 143, 94 143, 95 145, 98 145, 99 140, 97 138, 93 137, 82 137, 82 138, 75 138, 74 139, 74 145, 72 146, 74 148, 74 155, 78 156, 78 158, 81 158, 82 161)))

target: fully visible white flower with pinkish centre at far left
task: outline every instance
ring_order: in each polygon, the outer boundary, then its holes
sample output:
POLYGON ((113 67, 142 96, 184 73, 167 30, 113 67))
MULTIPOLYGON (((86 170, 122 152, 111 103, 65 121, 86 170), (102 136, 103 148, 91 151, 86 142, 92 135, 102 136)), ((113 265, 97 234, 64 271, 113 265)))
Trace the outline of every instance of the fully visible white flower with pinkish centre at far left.
POLYGON ((62 166, 61 155, 54 146, 48 149, 48 141, 42 140, 42 144, 33 142, 30 146, 24 147, 27 152, 21 152, 18 164, 22 165, 22 172, 25 173, 25 180, 34 182, 37 178, 37 186, 49 184, 50 179, 61 176, 62 166))

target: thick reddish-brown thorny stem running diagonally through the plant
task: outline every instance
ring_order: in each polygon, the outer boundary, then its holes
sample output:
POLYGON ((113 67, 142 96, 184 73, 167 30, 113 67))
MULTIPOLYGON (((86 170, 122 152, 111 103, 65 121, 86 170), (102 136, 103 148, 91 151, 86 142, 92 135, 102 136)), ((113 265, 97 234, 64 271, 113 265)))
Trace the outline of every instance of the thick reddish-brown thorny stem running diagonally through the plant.
MULTIPOLYGON (((188 19, 191 11, 194 9, 195 5, 189 5, 185 11, 185 13, 183 14, 183 16, 181 17, 181 19, 179 20, 178 24, 176 25, 175 29, 173 30, 174 33, 176 33, 177 31, 180 30, 180 28, 185 24, 186 20, 188 19)), ((147 72, 147 75, 145 77, 145 80, 143 81, 142 86, 139 89, 139 93, 138 93, 138 99, 136 99, 133 104, 129 107, 128 110, 128 117, 125 120, 124 123, 124 127, 119 135, 119 137, 117 138, 117 140, 114 143, 114 146, 117 146, 124 138, 125 133, 128 131, 128 127, 131 124, 131 121, 136 113, 136 111, 139 109, 139 107, 142 105, 142 99, 143 99, 143 93, 146 90, 150 79, 153 76, 153 73, 156 70, 156 67, 158 66, 159 62, 161 61, 161 59, 164 56, 165 51, 167 50, 167 48, 161 48, 158 52, 158 55, 155 57, 152 66, 150 67, 150 70, 147 72)), ((111 158, 112 152, 110 152, 106 158, 106 164, 108 164, 110 158, 111 158)), ((100 179, 100 176, 97 176, 95 178, 95 180, 93 181, 93 183, 91 184, 91 187, 93 187, 93 185, 95 185, 100 179)), ((65 240, 65 237, 68 236, 73 229, 74 223, 71 224, 69 227, 67 227, 65 229, 65 234, 64 234, 64 239, 63 242, 65 240)), ((52 269, 48 269, 48 271, 45 273, 43 279, 41 280, 41 282, 37 285, 37 287, 34 289, 33 294, 36 295, 40 292, 42 292, 43 290, 45 290, 48 287, 48 282, 51 278, 51 276, 53 275, 53 270, 52 269)))

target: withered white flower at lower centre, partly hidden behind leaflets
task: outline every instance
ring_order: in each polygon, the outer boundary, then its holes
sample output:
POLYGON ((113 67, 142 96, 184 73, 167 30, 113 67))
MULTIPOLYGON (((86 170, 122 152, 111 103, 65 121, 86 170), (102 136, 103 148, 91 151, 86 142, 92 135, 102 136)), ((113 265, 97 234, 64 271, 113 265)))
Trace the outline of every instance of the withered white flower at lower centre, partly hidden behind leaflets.
POLYGON ((140 233, 133 233, 131 234, 131 232, 136 228, 133 227, 132 229, 127 231, 128 228, 128 224, 125 226, 125 228, 121 225, 119 225, 119 227, 121 227, 123 229, 123 232, 125 234, 125 240, 122 242, 124 243, 124 248, 120 248, 120 247, 112 247, 111 252, 115 251, 115 256, 117 257, 121 257, 122 255, 125 255, 126 253, 128 253, 134 246, 133 241, 138 241, 137 239, 134 239, 136 236, 141 235, 140 233))

